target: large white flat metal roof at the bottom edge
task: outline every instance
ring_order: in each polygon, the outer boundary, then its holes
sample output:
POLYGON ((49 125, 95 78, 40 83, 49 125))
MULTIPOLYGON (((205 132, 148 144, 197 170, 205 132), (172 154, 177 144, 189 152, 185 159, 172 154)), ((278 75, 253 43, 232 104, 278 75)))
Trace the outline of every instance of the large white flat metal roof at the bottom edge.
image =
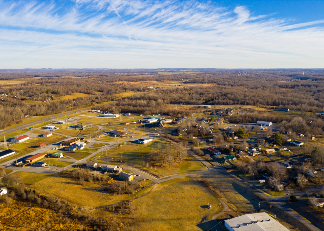
POLYGON ((266 213, 245 214, 225 222, 233 230, 289 230, 266 213))

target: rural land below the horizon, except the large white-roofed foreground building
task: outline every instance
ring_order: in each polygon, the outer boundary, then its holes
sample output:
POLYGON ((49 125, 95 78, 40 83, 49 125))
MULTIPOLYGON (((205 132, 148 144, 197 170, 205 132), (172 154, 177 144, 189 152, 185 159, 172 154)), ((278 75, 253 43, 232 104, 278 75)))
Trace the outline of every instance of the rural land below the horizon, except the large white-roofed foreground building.
POLYGON ((0 228, 322 230, 323 75, 1 70, 0 228))

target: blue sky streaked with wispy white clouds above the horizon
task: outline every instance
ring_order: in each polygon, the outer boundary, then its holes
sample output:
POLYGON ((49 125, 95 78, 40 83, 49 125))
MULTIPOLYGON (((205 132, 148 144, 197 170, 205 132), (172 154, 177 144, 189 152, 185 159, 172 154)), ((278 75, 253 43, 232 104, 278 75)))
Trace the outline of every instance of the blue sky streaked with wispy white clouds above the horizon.
POLYGON ((3 1, 4 68, 323 68, 324 1, 3 1))

